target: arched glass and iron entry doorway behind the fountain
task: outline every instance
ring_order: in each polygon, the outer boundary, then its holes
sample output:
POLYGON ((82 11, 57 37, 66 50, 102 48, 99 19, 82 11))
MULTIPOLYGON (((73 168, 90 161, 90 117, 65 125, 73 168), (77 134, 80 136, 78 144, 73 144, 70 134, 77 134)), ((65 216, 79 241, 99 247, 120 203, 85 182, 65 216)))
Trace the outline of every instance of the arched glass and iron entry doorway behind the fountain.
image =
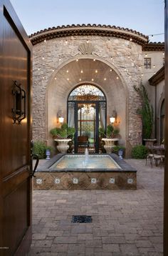
POLYGON ((99 152, 99 128, 106 129, 105 94, 93 84, 82 84, 68 97, 68 126, 75 127, 75 153, 99 152))

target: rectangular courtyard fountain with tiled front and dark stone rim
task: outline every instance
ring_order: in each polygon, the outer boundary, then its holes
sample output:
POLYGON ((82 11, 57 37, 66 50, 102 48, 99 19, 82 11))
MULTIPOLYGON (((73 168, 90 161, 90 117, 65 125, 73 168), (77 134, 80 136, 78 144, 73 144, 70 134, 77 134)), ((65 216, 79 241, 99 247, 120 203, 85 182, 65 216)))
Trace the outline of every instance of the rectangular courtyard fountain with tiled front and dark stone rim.
POLYGON ((137 170, 116 154, 57 154, 35 176, 33 189, 137 189, 137 170))

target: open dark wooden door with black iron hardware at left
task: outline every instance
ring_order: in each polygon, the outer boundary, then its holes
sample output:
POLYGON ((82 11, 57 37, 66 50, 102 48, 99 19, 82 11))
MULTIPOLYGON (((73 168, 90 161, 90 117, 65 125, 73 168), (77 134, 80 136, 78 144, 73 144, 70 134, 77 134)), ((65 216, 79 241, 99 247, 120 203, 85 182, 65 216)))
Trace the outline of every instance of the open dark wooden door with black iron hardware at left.
POLYGON ((31 244, 31 43, 0 0, 0 255, 31 244))

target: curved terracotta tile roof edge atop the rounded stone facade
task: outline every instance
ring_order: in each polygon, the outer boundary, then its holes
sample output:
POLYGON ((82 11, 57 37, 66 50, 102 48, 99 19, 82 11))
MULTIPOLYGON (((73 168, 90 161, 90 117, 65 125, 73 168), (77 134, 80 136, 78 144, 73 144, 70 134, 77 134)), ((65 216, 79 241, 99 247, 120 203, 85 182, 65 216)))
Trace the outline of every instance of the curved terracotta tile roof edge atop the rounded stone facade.
POLYGON ((144 45, 147 44, 148 36, 132 29, 125 29, 120 26, 110 26, 101 24, 72 24, 67 26, 53 26, 31 34, 30 39, 33 45, 41 43, 44 39, 53 39, 65 36, 114 36, 121 39, 130 40, 144 45))

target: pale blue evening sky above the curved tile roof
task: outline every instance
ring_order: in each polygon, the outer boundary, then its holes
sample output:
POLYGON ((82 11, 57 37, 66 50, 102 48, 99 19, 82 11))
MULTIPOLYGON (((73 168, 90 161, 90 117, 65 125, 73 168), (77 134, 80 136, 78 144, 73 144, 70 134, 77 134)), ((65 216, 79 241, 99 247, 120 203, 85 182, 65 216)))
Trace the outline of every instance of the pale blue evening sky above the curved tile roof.
POLYGON ((11 0, 28 35, 48 27, 105 24, 164 41, 164 0, 11 0), (153 36, 152 36, 153 35, 153 36))

